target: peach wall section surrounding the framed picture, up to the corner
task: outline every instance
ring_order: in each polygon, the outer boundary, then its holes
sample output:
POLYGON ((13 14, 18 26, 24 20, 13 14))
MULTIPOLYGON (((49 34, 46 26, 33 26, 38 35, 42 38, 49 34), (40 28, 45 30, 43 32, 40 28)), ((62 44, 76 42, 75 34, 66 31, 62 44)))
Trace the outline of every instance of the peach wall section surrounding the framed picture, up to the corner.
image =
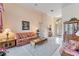
POLYGON ((4 4, 4 9, 4 29, 10 28, 14 32, 27 31, 22 30, 22 20, 30 22, 29 31, 36 31, 36 28, 39 27, 39 22, 41 22, 42 20, 42 13, 39 13, 27 7, 23 8, 19 4, 4 4))

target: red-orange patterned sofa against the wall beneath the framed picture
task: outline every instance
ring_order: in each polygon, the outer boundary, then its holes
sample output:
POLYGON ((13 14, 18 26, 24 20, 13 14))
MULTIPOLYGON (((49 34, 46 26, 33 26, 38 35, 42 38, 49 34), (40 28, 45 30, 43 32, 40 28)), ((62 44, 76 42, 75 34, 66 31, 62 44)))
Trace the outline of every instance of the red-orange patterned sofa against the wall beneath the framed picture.
POLYGON ((21 32, 16 33, 16 46, 21 46, 30 43, 31 40, 37 38, 37 34, 34 32, 21 32))

